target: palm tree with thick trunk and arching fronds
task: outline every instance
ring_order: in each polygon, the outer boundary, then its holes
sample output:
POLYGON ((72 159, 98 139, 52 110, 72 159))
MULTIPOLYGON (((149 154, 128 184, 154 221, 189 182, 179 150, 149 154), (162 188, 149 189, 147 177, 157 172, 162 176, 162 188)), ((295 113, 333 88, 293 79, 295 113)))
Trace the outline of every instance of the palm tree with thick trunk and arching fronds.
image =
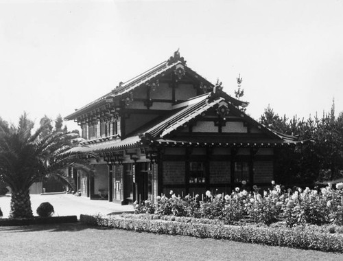
POLYGON ((0 120, 0 177, 12 190, 10 218, 33 216, 29 187, 34 182, 54 175, 73 186, 61 170, 77 164, 91 171, 80 153, 68 152, 77 145, 75 134, 51 131, 42 135, 46 131, 44 125, 35 132, 33 128, 34 123, 26 113, 17 127, 0 120))

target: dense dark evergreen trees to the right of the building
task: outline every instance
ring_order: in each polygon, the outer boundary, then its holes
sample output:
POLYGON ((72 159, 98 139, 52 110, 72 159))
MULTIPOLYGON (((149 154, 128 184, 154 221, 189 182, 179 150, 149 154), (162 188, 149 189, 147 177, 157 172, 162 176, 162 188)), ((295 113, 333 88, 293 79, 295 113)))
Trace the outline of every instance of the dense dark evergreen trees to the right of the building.
POLYGON ((280 117, 268 106, 259 122, 281 133, 296 135, 300 140, 311 140, 296 149, 277 153, 276 173, 281 183, 313 183, 343 179, 343 113, 335 117, 335 106, 329 113, 307 120, 294 116, 280 117))

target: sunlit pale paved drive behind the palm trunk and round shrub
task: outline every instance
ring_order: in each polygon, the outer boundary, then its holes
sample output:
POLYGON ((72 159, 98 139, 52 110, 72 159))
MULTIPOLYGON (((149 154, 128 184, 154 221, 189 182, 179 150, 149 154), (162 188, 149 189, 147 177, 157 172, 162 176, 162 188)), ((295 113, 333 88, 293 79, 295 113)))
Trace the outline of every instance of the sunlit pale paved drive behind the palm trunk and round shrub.
MULTIPOLYGON (((31 194, 31 205, 34 216, 36 209, 43 202, 49 202, 55 209, 54 216, 71 216, 80 214, 110 214, 112 212, 133 212, 132 205, 120 205, 108 201, 90 200, 83 196, 74 196, 72 194, 31 194)), ((0 196, 0 208, 3 212, 3 218, 7 218, 10 213, 10 194, 0 196)))

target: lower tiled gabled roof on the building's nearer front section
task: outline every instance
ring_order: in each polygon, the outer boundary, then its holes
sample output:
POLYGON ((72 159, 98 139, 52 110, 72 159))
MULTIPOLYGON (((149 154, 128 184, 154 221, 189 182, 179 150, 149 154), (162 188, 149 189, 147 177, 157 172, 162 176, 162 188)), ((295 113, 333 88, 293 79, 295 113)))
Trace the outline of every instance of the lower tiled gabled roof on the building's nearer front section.
MULTIPOLYGON (((253 120, 246 113, 241 112, 236 106, 227 99, 227 94, 216 87, 211 93, 205 93, 191 98, 185 102, 174 104, 173 109, 168 115, 161 117, 157 122, 151 122, 150 126, 142 127, 139 133, 135 133, 123 140, 110 140, 89 144, 85 147, 79 147, 84 152, 109 152, 123 150, 128 148, 138 148, 139 146, 225 146, 225 147, 279 147, 296 146, 306 141, 297 141, 297 138, 291 135, 276 133, 262 124, 253 120), (170 135, 173 131, 185 128, 197 117, 202 117, 221 102, 227 102, 228 109, 237 117, 241 117, 244 122, 258 128, 265 135, 262 137, 256 133, 217 133, 209 135, 208 133, 198 133, 187 135, 178 133, 177 136, 170 135), (248 139, 247 139, 248 137, 248 139)), ((79 151, 75 148, 75 151, 79 151)))

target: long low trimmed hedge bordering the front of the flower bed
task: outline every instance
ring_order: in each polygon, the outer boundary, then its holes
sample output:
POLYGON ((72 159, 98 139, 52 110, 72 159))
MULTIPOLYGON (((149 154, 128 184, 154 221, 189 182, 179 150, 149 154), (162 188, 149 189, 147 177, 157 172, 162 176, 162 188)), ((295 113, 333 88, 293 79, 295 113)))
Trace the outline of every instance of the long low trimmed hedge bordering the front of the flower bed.
POLYGON ((88 225, 113 227, 138 232, 216 238, 238 242, 250 242, 270 246, 293 247, 343 253, 343 236, 300 231, 290 228, 208 225, 182 223, 158 219, 124 218, 123 216, 81 215, 80 221, 88 225))

